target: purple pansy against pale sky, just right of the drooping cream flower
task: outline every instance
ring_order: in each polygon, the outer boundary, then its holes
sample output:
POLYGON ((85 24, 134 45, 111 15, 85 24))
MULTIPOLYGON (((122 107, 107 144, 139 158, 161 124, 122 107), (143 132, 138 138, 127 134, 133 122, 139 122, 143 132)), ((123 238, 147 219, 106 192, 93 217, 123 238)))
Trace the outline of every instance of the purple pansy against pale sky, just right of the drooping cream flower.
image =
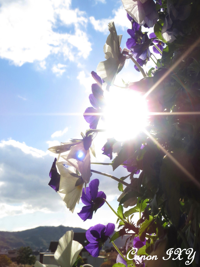
POLYGON ((93 212, 96 212, 104 204, 106 195, 103 191, 98 192, 99 180, 94 179, 90 182, 89 187, 83 188, 81 201, 86 206, 82 207, 82 210, 78 213, 78 216, 85 222, 87 219, 91 219, 93 212))

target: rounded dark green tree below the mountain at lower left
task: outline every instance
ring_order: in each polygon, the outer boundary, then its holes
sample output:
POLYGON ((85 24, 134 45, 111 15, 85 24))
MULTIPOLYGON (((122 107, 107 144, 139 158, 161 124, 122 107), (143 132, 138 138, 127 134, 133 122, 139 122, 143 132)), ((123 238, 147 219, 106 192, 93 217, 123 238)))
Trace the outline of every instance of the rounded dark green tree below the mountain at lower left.
POLYGON ((28 247, 21 247, 18 249, 17 263, 33 265, 35 264, 36 257, 31 255, 33 253, 32 249, 28 247))

